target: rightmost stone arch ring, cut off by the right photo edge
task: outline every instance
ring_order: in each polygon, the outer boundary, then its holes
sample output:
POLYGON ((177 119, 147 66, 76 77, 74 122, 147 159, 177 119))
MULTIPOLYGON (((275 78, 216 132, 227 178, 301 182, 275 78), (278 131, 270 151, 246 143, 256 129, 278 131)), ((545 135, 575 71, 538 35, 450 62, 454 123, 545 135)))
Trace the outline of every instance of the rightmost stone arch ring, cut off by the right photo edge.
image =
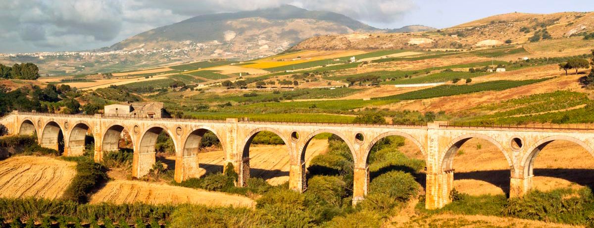
POLYGON ((534 161, 536 160, 537 155, 542 149, 545 148, 546 145, 555 141, 555 140, 565 140, 568 142, 576 143, 577 145, 582 146, 586 151, 594 157, 594 149, 591 146, 587 145, 587 143, 583 142, 580 139, 573 138, 571 136, 549 136, 544 139, 538 140, 538 142, 534 143, 530 148, 527 149, 526 154, 523 155, 522 160, 520 160, 523 165, 522 176, 524 178, 530 177, 533 175, 534 169, 534 161))

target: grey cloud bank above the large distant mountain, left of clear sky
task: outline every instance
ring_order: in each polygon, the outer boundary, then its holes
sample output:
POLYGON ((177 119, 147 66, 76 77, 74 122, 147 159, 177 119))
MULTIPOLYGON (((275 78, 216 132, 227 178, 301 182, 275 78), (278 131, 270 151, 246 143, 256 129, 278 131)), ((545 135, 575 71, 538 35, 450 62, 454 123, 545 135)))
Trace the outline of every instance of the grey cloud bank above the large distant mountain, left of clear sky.
POLYGON ((149 29, 202 14, 291 4, 333 11, 365 23, 389 24, 413 0, 0 0, 0 52, 100 48, 149 29))

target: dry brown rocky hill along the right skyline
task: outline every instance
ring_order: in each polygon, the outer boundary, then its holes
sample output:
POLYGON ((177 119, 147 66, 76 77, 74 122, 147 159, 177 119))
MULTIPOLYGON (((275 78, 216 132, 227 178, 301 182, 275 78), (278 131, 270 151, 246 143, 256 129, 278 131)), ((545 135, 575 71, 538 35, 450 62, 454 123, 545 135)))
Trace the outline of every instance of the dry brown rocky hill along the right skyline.
POLYGON ((510 13, 485 17, 446 29, 415 33, 360 33, 317 36, 293 46, 302 49, 468 49, 584 36, 594 32, 594 13, 510 13))

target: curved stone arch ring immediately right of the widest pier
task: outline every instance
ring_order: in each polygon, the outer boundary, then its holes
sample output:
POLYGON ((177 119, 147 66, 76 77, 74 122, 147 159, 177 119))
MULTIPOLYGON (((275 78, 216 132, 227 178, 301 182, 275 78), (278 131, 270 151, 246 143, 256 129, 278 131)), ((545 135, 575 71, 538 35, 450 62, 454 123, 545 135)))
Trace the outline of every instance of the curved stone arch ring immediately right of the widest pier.
POLYGON ((503 148, 501 143, 497 142, 497 140, 495 140, 489 136, 471 133, 471 134, 459 136, 459 137, 451 140, 450 144, 446 147, 447 150, 445 151, 445 154, 443 155, 443 157, 441 157, 440 163, 438 163, 439 165, 441 165, 440 171, 447 171, 447 170, 452 169, 452 163, 454 161, 454 157, 456 157, 458 150, 467 140, 472 139, 472 138, 485 139, 485 140, 491 142, 493 145, 497 146, 497 148, 501 151, 501 153, 503 153, 505 160, 507 160, 507 164, 510 167, 513 167, 513 161, 511 161, 511 158, 505 152, 505 149, 503 148))

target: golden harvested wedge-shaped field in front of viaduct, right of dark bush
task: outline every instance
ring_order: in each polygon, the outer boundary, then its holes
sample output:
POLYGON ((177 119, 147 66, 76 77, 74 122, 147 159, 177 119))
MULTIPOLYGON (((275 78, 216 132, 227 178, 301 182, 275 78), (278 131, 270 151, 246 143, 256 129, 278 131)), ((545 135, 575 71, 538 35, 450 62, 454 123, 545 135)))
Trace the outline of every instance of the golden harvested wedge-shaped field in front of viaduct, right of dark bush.
POLYGON ((113 180, 91 196, 91 204, 143 202, 146 204, 203 204, 207 206, 254 207, 245 196, 183 188, 136 180, 113 180))

